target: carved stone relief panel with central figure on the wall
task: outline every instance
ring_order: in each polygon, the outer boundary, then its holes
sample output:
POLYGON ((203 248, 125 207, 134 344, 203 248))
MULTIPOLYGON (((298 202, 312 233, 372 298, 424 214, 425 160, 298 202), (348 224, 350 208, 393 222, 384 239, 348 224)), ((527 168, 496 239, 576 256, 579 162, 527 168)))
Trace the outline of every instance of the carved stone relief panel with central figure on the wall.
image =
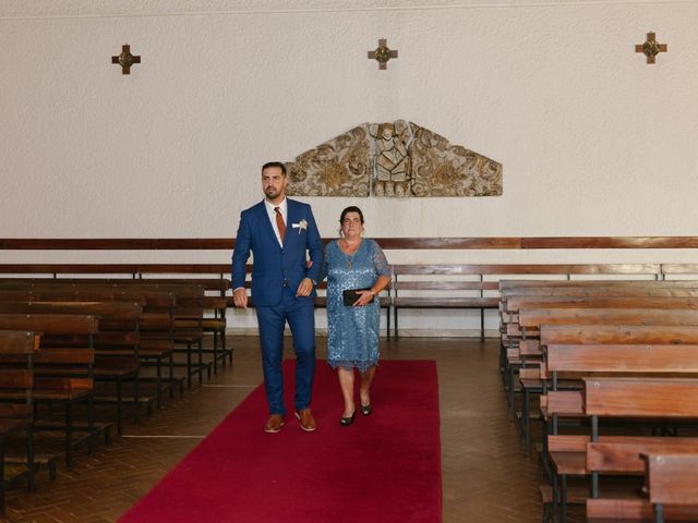
POLYGON ((502 194, 502 163, 405 120, 359 125, 287 168, 291 196, 502 194))

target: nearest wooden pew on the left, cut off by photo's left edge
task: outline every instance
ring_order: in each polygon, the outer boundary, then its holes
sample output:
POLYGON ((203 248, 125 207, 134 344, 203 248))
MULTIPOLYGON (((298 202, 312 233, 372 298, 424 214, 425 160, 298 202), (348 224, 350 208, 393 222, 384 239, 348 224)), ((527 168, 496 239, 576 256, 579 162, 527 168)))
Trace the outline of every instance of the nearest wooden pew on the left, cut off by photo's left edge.
MULTIPOLYGON (((4 491, 10 483, 5 478, 5 438, 26 434, 25 472, 29 490, 34 489, 34 451, 32 445, 32 415, 34 388, 33 356, 38 350, 39 337, 32 331, 0 330, 0 514, 4 513, 4 491), (22 403, 4 400, 24 398, 22 403)), ((16 478, 15 478, 16 479, 16 478)))

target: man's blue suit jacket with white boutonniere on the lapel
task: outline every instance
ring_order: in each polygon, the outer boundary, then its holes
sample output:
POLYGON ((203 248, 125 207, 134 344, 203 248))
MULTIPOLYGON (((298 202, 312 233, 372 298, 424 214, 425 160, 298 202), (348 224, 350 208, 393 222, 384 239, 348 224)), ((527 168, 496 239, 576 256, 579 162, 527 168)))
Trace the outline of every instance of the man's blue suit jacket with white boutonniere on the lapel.
MULTIPOLYGON (((243 210, 232 252, 232 288, 244 287, 250 253, 254 255, 252 266, 252 300, 255 305, 278 305, 281 302, 284 281, 296 292, 303 278, 320 281, 323 266, 323 242, 315 224, 310 205, 286 199, 286 239, 281 247, 266 214, 264 202, 243 210), (293 228, 305 220, 306 227, 293 228), (306 268, 305 252, 310 253, 312 267, 306 268)), ((312 300, 315 290, 308 297, 312 300)))

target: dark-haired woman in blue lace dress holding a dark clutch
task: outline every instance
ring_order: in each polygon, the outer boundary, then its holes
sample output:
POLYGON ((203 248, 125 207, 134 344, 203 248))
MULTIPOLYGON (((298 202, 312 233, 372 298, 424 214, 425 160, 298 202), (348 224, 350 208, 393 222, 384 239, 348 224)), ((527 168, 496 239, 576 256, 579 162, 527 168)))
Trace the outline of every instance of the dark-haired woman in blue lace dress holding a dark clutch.
POLYGON ((357 411, 354 368, 361 375, 361 414, 371 414, 371 384, 378 365, 377 294, 390 282, 390 270, 378 244, 361 238, 363 214, 359 207, 342 210, 339 223, 342 238, 325 246, 323 275, 327 276, 327 363, 337 369, 345 401, 339 423, 349 426, 357 411), (345 304, 346 290, 357 290, 356 301, 345 304))

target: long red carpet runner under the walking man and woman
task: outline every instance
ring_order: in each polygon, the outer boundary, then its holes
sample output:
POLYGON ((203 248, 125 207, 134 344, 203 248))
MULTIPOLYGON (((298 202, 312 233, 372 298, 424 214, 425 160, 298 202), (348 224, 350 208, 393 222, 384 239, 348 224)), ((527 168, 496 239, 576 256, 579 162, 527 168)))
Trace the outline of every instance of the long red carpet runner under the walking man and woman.
POLYGON ((262 430, 260 386, 120 522, 442 521, 435 362, 382 362, 373 413, 340 427, 337 377, 318 361, 315 433, 292 416, 293 362, 285 363, 285 384, 279 434, 262 430))

